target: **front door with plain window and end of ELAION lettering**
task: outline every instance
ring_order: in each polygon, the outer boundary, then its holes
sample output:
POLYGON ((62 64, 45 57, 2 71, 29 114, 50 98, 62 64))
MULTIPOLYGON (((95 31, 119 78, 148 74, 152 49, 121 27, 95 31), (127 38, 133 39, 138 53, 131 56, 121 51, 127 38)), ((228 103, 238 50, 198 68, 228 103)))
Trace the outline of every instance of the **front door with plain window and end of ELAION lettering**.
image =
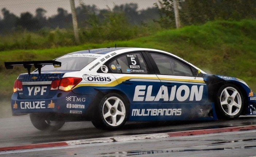
POLYGON ((212 117, 207 85, 197 77, 197 69, 185 61, 160 52, 147 52, 162 85, 162 108, 172 109, 173 119, 212 117))

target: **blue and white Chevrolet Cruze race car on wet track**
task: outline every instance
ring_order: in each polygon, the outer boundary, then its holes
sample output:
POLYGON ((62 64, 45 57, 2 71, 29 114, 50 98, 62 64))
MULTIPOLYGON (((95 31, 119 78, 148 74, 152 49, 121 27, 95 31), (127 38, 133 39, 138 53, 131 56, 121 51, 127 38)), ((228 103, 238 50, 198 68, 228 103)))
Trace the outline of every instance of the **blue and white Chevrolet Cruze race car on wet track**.
POLYGON ((30 114, 35 128, 58 130, 90 120, 119 129, 126 121, 216 120, 256 114, 255 93, 240 79, 207 75, 171 53, 147 48, 78 51, 22 65, 11 98, 13 116, 30 114), (38 68, 30 73, 31 66, 38 68))

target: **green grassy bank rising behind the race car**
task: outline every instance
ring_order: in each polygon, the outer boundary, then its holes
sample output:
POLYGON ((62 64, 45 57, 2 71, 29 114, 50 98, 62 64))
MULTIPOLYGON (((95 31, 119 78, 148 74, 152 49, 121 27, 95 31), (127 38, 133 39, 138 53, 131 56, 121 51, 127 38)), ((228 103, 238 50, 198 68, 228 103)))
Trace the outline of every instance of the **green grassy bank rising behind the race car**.
MULTIPOLYGON (((84 44, 42 50, 0 52, 1 97, 10 98, 19 73, 26 69, 6 70, 4 61, 52 60, 66 53, 84 49, 143 47, 171 52, 207 73, 240 78, 256 91, 256 21, 214 21, 181 29, 163 30, 154 35, 127 41, 84 44)), ((1 98, 1 99, 2 99, 1 98)), ((0 101, 1 102, 1 101, 0 101)))

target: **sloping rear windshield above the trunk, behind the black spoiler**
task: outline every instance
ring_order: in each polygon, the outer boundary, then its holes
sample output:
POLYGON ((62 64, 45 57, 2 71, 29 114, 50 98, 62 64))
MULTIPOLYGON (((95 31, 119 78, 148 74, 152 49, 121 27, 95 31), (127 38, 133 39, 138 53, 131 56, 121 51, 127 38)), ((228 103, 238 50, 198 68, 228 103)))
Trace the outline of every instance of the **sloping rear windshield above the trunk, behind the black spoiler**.
POLYGON ((69 70, 69 71, 80 71, 86 65, 97 59, 97 55, 67 55, 56 59, 61 62, 61 67, 54 68, 53 65, 44 65, 41 71, 54 71, 54 70, 69 70), (90 56, 90 57, 88 57, 90 56))

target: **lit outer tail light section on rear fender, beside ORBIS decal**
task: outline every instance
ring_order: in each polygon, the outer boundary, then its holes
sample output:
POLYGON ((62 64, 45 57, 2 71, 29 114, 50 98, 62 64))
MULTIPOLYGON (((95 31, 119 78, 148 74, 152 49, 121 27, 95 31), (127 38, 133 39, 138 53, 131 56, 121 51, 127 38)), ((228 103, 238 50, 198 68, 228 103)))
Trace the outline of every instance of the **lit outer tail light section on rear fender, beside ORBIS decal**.
POLYGON ((76 86, 82 79, 78 77, 65 77, 61 79, 59 83, 59 90, 70 91, 74 86, 76 86))

